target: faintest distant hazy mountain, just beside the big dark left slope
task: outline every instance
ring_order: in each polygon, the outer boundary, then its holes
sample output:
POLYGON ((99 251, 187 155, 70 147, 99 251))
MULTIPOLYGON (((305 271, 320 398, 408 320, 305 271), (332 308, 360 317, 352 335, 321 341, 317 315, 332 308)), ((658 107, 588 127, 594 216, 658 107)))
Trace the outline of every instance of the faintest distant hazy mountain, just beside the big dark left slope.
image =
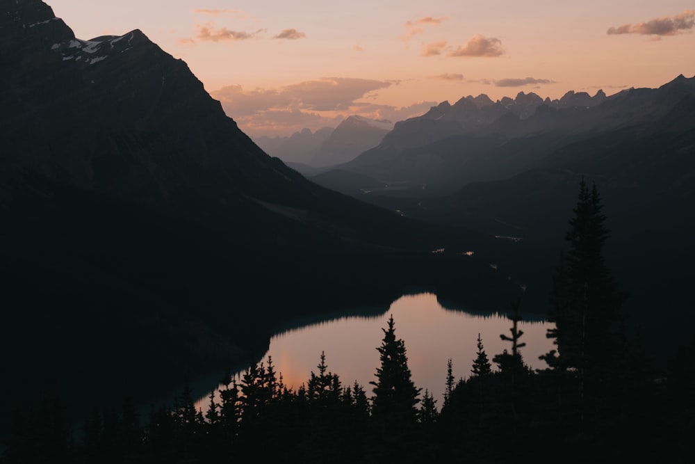
POLYGON ((305 128, 289 137, 261 136, 254 138, 254 141, 264 152, 278 157, 285 163, 311 164, 322 143, 333 131, 332 127, 322 127, 312 133, 310 129, 305 128))

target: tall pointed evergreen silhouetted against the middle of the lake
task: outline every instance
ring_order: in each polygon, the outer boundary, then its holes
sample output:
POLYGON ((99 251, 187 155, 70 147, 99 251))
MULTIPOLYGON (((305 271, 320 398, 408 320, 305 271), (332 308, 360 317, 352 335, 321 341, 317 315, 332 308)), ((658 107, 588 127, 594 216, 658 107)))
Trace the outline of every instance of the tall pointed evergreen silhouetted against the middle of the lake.
POLYGON ((377 422, 400 429, 417 420, 420 388, 411 380, 405 344, 395 337, 393 316, 389 318, 389 328, 382 330, 384 339, 377 348, 381 366, 375 374, 377 381, 370 382, 374 385, 372 413, 377 422))

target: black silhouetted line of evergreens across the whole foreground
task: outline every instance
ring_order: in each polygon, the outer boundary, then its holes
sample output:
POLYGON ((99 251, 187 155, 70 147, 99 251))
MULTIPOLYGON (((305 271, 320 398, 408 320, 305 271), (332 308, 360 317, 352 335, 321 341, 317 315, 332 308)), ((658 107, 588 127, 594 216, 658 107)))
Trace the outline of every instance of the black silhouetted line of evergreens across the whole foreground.
MULTIPOLYGON (((81 439, 72 438, 63 406, 40 399, 18 411, 2 463, 259 462, 688 462, 695 431, 692 389, 695 338, 666 378, 625 333, 616 281, 603 260, 600 195, 582 180, 567 234, 569 251, 553 277, 548 367, 523 359, 521 301, 509 311, 509 349, 492 357, 483 340, 470 374, 456 381, 451 360, 441 408, 411 380, 404 340, 391 317, 383 329, 371 394, 345 385, 324 353, 297 390, 272 358, 224 379, 206 413, 186 387, 170 408, 139 417, 132 401, 95 409, 81 439), (421 396, 421 398, 420 398, 421 396)), ((471 341, 473 342, 473 341, 471 341)))

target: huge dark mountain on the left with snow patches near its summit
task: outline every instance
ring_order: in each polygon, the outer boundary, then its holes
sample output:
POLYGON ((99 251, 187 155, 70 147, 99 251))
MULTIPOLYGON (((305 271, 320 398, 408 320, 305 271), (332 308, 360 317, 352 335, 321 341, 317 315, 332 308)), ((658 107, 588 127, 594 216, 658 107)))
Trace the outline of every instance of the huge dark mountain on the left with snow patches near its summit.
POLYGON ((1 0, 0 125, 6 399, 60 392, 81 419, 186 369, 256 359, 296 317, 388 305, 415 285, 511 288, 431 253, 486 237, 363 204, 265 154, 141 31, 81 40, 42 1, 1 0))

